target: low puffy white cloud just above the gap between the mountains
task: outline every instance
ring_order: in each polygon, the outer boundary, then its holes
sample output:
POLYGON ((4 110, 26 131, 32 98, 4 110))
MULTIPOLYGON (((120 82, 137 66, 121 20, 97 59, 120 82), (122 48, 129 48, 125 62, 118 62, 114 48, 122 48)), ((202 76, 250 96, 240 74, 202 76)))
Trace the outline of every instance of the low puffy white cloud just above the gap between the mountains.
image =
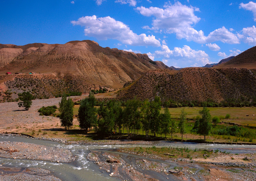
POLYGON ((202 50, 193 50, 189 46, 184 45, 181 47, 174 47, 170 50, 167 45, 162 45, 161 50, 155 51, 151 56, 163 57, 163 59, 176 59, 178 61, 191 61, 195 62, 197 66, 206 65, 211 63, 209 61, 209 55, 202 50))

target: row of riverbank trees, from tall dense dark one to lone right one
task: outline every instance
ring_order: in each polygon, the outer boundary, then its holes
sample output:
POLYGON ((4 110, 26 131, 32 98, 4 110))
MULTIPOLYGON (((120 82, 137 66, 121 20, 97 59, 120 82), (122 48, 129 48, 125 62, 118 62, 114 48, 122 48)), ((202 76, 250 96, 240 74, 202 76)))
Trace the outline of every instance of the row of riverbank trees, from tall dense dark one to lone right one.
MULTIPOLYGON (((113 132, 146 136, 157 136, 158 134, 172 134, 179 131, 182 135, 186 133, 185 122, 187 113, 182 109, 178 123, 171 118, 168 108, 161 113, 161 100, 156 96, 153 101, 140 101, 136 98, 125 102, 124 107, 120 101, 109 100, 101 102, 99 108, 95 105, 96 99, 94 93, 90 93, 88 98, 81 100, 78 110, 79 127, 85 132, 94 130, 98 134, 111 135, 113 132), (178 126, 178 130, 177 130, 178 126)), ((207 108, 199 111, 202 118, 199 120, 199 133, 206 136, 211 130, 211 115, 207 108)))

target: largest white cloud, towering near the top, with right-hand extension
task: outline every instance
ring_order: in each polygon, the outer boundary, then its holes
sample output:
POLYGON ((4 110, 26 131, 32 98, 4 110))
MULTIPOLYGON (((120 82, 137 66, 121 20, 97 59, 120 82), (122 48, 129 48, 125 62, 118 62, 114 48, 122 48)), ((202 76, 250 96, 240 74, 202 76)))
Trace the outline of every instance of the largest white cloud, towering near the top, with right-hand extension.
POLYGON ((208 36, 205 36, 202 30, 195 30, 192 26, 200 21, 200 18, 194 14, 195 11, 199 11, 196 7, 188 7, 180 2, 176 2, 173 5, 165 5, 163 8, 145 8, 141 6, 137 7, 136 10, 143 16, 155 17, 152 20, 152 27, 144 26, 144 29, 163 31, 169 34, 175 33, 177 39, 185 38, 187 41, 197 43, 210 43, 214 41, 230 44, 239 43, 237 36, 225 27, 210 32, 208 36))

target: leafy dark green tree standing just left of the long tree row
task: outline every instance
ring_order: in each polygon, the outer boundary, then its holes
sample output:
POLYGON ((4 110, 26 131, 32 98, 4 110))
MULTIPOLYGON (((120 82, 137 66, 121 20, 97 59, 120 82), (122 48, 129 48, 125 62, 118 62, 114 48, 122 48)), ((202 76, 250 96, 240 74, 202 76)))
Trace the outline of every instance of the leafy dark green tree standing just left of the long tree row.
POLYGON ((73 125, 74 103, 70 97, 67 100, 67 96, 63 95, 59 106, 61 126, 65 126, 65 130, 67 130, 67 128, 69 130, 69 127, 73 125))

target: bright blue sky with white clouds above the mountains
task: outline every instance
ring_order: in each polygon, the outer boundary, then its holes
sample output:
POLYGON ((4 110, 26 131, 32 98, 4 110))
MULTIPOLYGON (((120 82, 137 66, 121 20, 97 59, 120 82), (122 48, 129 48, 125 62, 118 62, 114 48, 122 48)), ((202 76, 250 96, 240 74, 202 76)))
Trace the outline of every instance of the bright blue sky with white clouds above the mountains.
POLYGON ((256 1, 1 0, 0 43, 66 43, 147 53, 168 66, 204 66, 256 45, 256 1))

